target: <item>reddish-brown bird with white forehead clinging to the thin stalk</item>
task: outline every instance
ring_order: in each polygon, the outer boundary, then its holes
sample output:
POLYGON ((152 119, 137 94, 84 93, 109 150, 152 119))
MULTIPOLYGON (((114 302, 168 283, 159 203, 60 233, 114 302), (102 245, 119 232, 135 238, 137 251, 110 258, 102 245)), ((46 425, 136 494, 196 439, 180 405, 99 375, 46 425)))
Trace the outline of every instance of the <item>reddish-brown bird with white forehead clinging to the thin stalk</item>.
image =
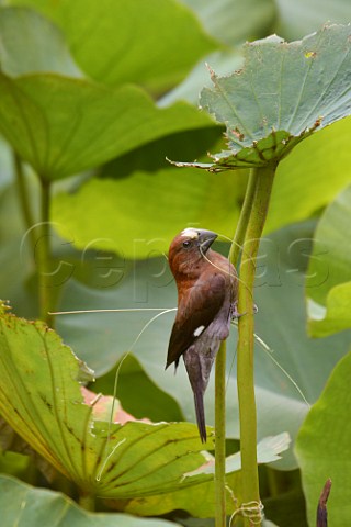
POLYGON ((176 369, 183 356, 194 393, 200 437, 206 441, 204 393, 222 340, 237 313, 237 273, 227 258, 210 247, 217 234, 185 228, 169 248, 169 265, 178 288, 178 312, 167 365, 176 369))

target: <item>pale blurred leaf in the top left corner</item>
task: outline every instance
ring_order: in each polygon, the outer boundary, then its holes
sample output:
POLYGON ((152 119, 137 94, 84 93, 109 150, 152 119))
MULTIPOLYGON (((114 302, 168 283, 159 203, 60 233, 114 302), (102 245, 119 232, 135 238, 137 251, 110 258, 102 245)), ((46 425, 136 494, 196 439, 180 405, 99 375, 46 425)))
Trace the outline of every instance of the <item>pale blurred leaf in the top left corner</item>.
POLYGON ((10 76, 56 71, 82 77, 69 55, 61 32, 35 11, 0 9, 1 71, 10 76))

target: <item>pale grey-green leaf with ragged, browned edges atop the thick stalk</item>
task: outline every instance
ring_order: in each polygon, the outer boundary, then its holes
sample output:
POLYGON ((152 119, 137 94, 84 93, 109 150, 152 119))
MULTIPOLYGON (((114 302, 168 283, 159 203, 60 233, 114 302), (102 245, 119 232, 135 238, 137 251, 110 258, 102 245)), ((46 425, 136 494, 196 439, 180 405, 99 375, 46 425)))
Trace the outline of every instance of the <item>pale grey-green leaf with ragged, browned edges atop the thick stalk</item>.
POLYGON ((351 27, 325 26, 291 44, 270 36, 245 46, 242 69, 211 71, 213 89, 200 104, 227 126, 228 150, 212 164, 177 164, 211 170, 279 161, 315 130, 350 114, 351 27))

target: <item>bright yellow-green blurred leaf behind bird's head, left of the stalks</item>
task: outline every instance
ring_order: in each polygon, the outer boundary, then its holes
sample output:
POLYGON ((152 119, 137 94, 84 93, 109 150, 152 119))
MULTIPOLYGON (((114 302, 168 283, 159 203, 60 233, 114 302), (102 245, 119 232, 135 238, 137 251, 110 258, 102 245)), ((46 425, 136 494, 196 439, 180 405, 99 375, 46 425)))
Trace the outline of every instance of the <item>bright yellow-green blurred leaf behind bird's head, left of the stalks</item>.
POLYGON ((60 235, 80 249, 89 246, 146 258, 166 251, 186 223, 211 223, 215 231, 231 233, 240 197, 241 188, 235 188, 230 175, 218 184, 216 176, 193 169, 136 171, 116 180, 91 179, 75 194, 59 194, 53 218, 60 235), (214 206, 222 199, 230 202, 230 216, 228 209, 214 206))

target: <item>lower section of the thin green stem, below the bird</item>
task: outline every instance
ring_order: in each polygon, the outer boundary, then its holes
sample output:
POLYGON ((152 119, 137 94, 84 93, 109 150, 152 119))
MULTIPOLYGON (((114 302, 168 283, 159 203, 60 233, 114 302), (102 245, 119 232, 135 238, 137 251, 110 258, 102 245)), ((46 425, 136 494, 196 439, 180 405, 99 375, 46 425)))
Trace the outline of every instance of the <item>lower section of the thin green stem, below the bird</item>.
POLYGON ((215 492, 216 527, 226 525, 226 341, 220 344, 215 367, 215 492))

